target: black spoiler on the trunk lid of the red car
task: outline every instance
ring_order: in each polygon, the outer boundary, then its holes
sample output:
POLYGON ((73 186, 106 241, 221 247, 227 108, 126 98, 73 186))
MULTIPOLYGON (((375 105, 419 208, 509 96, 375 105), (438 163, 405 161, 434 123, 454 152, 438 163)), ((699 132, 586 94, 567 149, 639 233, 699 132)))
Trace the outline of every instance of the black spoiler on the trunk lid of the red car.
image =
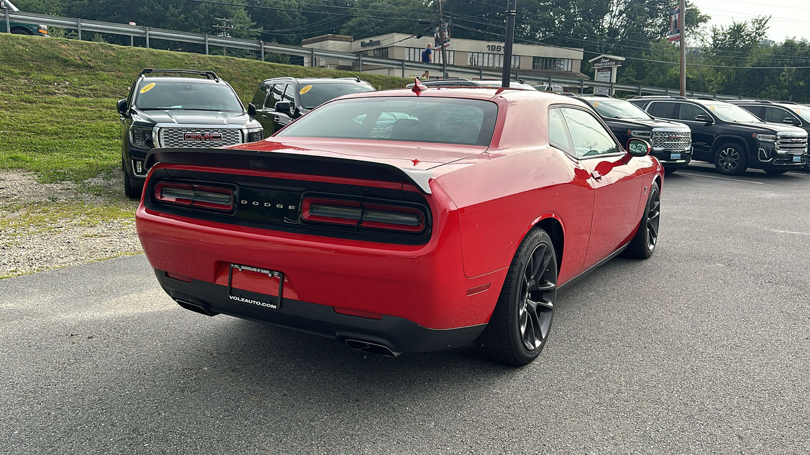
POLYGON ((433 176, 433 172, 430 171, 398 168, 391 164, 364 159, 228 148, 153 148, 147 155, 146 167, 151 168, 157 163, 232 169, 266 169, 277 172, 376 181, 406 181, 416 185, 416 188, 425 194, 430 194, 428 182, 433 176))

